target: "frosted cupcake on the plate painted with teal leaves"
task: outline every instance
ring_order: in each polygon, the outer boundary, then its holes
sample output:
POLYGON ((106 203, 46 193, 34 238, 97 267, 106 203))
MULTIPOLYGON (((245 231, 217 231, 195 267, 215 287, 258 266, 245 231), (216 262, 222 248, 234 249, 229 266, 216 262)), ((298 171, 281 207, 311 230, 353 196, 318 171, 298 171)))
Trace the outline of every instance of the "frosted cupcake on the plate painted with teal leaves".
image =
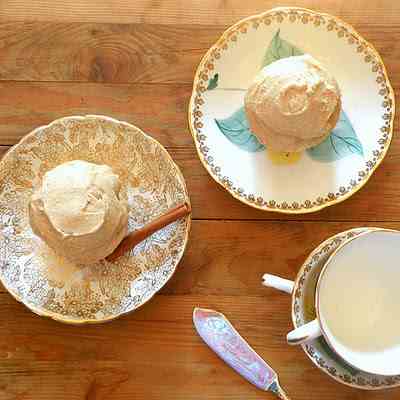
POLYGON ((321 143, 340 114, 336 79, 310 55, 263 68, 245 96, 250 129, 269 150, 299 152, 321 143))

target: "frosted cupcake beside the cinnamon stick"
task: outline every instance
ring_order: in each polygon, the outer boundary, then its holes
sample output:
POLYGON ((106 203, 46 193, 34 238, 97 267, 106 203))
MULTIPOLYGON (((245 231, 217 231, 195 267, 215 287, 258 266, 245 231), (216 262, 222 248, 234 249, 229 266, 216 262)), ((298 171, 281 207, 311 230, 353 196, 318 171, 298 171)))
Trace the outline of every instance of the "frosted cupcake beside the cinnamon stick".
POLYGON ((29 204, 33 232, 79 264, 113 252, 125 237, 128 207, 118 175, 107 165, 69 161, 48 171, 29 204))

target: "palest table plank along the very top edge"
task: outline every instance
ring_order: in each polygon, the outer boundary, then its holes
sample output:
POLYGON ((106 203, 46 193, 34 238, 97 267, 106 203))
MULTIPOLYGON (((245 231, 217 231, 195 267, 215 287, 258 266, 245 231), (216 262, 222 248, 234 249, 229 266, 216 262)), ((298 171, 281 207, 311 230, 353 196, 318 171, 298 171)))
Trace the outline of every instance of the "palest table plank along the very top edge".
POLYGON ((352 24, 398 24, 400 10, 393 0, 2 0, 6 21, 111 22, 167 25, 230 25, 272 7, 311 8, 346 18, 352 24))

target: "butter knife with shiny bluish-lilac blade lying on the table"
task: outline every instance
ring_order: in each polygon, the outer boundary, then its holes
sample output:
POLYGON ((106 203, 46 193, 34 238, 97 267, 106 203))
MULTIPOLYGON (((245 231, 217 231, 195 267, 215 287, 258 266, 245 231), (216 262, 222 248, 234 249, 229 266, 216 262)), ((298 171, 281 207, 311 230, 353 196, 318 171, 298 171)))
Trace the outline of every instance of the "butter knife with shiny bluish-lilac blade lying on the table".
POLYGON ((261 390, 290 400, 276 372, 239 335, 226 317, 213 310, 195 308, 193 323, 200 337, 230 367, 261 390))

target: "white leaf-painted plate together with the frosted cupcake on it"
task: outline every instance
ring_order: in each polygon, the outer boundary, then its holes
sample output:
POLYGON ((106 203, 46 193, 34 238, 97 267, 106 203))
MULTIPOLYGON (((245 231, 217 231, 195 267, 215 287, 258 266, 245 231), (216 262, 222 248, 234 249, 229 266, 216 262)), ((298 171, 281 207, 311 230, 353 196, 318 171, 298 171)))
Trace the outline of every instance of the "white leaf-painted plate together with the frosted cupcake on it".
POLYGON ((205 54, 189 126, 232 196, 300 214, 364 186, 389 148, 394 109, 372 44, 332 15, 279 7, 239 21, 205 54))

